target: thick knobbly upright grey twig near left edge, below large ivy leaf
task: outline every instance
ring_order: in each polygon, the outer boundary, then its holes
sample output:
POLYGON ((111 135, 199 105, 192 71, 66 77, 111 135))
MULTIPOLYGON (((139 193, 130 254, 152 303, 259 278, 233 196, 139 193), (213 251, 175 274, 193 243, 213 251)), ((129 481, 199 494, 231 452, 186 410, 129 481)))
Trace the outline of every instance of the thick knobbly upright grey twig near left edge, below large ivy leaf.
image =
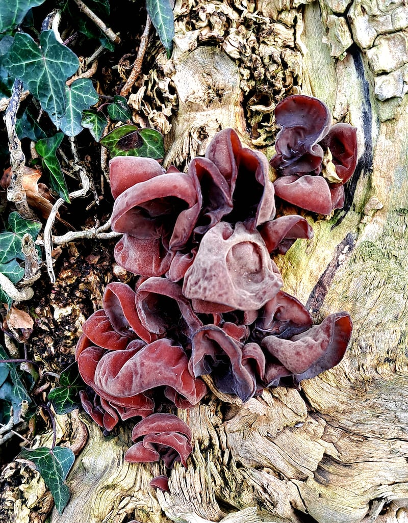
POLYGON ((25 218, 31 218, 32 214, 27 204, 26 191, 22 187, 22 178, 26 166, 26 157, 21 149, 21 142, 16 133, 16 116, 20 106, 22 93, 22 82, 14 81, 12 97, 7 106, 4 121, 6 123, 10 151, 10 164, 12 167, 12 178, 7 188, 7 199, 16 204, 18 212, 25 218))

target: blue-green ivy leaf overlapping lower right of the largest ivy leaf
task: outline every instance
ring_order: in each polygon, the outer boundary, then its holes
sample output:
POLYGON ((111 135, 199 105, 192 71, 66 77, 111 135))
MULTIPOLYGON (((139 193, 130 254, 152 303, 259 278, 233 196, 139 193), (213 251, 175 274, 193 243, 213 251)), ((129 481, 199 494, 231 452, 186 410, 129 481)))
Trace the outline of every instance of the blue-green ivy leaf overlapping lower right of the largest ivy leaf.
POLYGON ((76 136, 82 131, 82 111, 97 103, 99 96, 89 78, 78 78, 65 87, 66 112, 61 120, 61 131, 76 136))

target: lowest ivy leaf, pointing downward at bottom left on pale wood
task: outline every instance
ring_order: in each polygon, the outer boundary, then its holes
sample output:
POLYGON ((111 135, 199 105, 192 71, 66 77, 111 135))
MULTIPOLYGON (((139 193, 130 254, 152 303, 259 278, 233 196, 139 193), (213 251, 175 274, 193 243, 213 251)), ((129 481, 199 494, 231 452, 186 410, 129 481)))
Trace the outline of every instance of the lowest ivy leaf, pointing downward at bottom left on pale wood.
POLYGON ((56 509, 59 514, 62 514, 70 499, 70 489, 65 483, 65 478, 75 460, 72 450, 66 447, 53 449, 38 447, 34 450, 23 449, 19 456, 35 464, 44 483, 51 491, 56 509))

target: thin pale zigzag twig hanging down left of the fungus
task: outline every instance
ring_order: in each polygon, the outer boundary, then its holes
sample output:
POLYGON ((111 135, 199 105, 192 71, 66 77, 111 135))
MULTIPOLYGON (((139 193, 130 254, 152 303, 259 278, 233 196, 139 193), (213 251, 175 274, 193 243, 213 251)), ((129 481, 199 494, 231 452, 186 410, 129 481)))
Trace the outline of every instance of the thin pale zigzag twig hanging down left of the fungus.
MULTIPOLYGON (((82 189, 78 189, 76 191, 70 192, 69 197, 70 200, 74 200, 75 198, 82 198, 86 196, 90 189, 90 181, 88 178, 88 175, 86 174, 86 170, 83 165, 80 164, 80 157, 78 156, 78 152, 75 145, 75 139, 71 138, 71 149, 74 156, 74 170, 76 170, 81 179, 82 189)), ((62 204, 65 202, 63 198, 59 198, 56 200, 54 205, 52 206, 52 209, 50 211, 50 215, 48 217, 46 226, 44 228, 44 251, 46 253, 46 263, 47 263, 47 270, 48 275, 50 277, 51 283, 55 283, 55 274, 54 269, 52 267, 52 238, 51 238, 51 231, 52 226, 55 222, 56 213, 58 213, 58 209, 62 206, 62 204)))

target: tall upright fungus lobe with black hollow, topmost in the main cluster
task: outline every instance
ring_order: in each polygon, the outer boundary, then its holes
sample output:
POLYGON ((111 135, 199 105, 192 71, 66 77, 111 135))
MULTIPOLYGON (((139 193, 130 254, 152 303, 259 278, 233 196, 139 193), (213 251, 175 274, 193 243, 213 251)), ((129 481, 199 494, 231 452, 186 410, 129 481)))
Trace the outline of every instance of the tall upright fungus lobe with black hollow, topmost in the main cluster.
POLYGON ((225 220, 242 221, 252 232, 274 218, 274 187, 262 153, 242 147, 236 132, 224 129, 211 140, 206 157, 219 168, 230 187, 233 210, 225 220))

